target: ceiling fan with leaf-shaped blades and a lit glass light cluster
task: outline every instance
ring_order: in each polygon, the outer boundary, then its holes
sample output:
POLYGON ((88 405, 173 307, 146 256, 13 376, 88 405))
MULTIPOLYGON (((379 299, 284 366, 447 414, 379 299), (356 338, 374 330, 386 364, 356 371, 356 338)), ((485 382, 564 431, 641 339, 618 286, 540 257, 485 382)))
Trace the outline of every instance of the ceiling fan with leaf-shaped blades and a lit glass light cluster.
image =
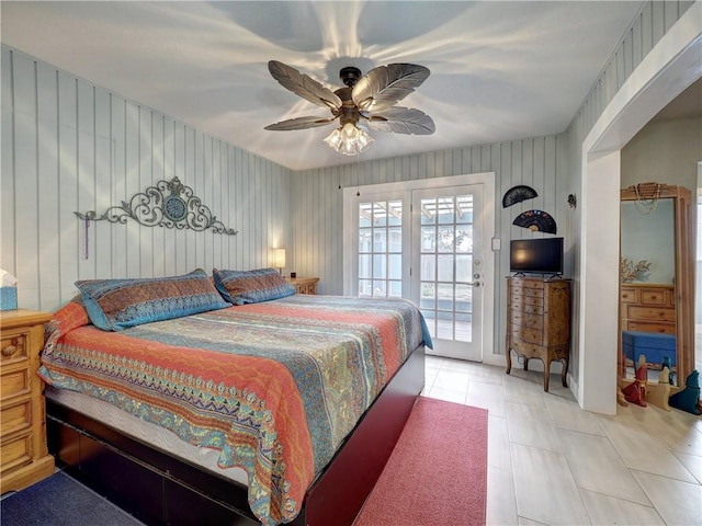
POLYGON ((359 68, 346 67, 339 72, 346 88, 336 91, 278 60, 269 61, 268 69, 284 88, 330 110, 331 116, 296 117, 271 124, 264 129, 287 132, 315 128, 339 119, 340 127, 325 142, 347 156, 364 151, 374 141, 359 123, 378 132, 407 135, 434 133, 434 122, 429 115, 411 107, 395 106, 427 80, 429 69, 423 66, 389 64, 374 68, 363 77, 359 68))

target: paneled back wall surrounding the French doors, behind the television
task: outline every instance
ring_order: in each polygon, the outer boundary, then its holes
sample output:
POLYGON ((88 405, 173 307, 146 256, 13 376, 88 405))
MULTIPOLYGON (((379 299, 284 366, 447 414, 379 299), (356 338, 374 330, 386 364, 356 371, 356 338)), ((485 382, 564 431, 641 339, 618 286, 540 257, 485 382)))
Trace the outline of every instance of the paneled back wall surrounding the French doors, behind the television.
MULTIPOLYGON (((296 172, 293 174, 292 207, 294 270, 301 276, 320 277, 318 290, 321 294, 342 294, 343 197, 339 186, 358 186, 362 193, 363 186, 371 184, 495 172, 496 232, 502 245, 492 259, 499 297, 494 313, 497 320, 495 341, 503 342, 499 335, 505 333, 507 291, 503 277, 509 274, 509 241, 543 236, 516 227, 512 221, 522 211, 545 210, 556 220, 557 235, 566 238, 566 244, 571 237, 566 155, 566 136, 557 135, 296 172), (532 186, 539 197, 502 208, 502 195, 518 184, 532 186)), ((566 275, 570 272, 567 267, 566 275)))

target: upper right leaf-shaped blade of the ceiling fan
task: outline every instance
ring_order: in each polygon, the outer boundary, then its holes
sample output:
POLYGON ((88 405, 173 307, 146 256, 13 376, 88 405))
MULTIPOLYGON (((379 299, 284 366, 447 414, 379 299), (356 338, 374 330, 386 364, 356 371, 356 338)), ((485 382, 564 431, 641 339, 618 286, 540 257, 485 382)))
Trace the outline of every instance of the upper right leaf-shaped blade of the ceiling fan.
POLYGON ((416 64, 380 66, 359 79, 351 96, 362 111, 384 111, 414 92, 428 77, 429 68, 416 64))

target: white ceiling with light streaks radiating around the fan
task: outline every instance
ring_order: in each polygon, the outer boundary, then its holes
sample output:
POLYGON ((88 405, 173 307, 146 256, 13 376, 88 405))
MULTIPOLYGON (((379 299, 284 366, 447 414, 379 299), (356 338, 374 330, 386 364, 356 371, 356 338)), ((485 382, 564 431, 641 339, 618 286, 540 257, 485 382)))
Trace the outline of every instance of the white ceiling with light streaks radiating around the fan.
POLYGON ((372 132, 361 160, 566 129, 639 1, 0 2, 2 43, 294 170, 355 162, 322 139, 328 116, 268 71, 276 59, 332 90, 339 69, 390 62, 431 76, 398 105, 437 132, 372 132))

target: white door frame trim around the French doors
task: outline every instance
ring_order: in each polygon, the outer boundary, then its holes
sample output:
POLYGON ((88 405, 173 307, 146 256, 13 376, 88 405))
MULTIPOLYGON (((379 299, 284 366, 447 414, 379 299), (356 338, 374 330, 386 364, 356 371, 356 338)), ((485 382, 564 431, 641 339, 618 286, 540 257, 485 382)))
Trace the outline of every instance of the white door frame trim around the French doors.
POLYGON ((483 296, 483 363, 490 365, 505 365, 505 355, 499 354, 496 348, 495 330, 496 320, 499 313, 495 311, 499 301, 496 301, 495 274, 499 268, 499 239, 495 238, 495 172, 467 173, 463 175, 450 175, 445 178, 419 179, 412 181, 398 181, 395 183, 369 184, 364 186, 349 186, 343 188, 343 294, 350 295, 353 289, 352 265, 350 256, 350 243, 358 243, 355 232, 351 231, 352 218, 355 214, 355 206, 359 198, 363 198, 366 192, 406 192, 412 190, 441 188, 445 186, 462 186, 471 184, 483 184, 483 254, 485 268, 483 274, 484 296, 483 296), (360 197, 356 196, 360 193, 360 197), (491 254, 491 256, 489 255, 491 254), (491 264, 489 264, 491 262, 491 264))

